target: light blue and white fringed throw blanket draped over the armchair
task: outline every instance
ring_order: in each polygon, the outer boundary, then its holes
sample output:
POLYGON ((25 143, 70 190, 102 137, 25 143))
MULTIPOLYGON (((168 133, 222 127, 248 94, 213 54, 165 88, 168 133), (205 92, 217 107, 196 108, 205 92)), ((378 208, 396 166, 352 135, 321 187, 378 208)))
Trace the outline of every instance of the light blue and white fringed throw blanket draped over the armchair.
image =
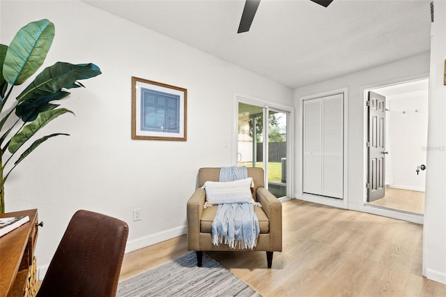
MULTIPOLYGON (((247 178, 246 167, 222 167, 220 181, 247 178)), ((229 248, 253 249, 259 237, 259 219, 252 203, 219 204, 212 223, 213 244, 225 243, 229 248)))

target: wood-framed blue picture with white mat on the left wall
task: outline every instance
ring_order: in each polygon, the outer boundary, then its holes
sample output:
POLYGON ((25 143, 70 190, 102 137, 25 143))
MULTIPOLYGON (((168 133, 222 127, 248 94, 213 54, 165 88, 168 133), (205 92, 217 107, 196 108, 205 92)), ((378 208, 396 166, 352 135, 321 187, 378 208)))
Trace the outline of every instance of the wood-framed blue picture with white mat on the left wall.
POLYGON ((132 77, 132 139, 187 139, 187 89, 132 77))

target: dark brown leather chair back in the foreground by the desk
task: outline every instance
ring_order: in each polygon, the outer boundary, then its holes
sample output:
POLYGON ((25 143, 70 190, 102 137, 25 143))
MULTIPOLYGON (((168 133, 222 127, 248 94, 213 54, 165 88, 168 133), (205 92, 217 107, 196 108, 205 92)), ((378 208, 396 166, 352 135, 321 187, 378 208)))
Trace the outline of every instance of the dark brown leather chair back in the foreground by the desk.
POLYGON ((116 296, 127 237, 127 223, 100 213, 77 211, 37 296, 116 296))

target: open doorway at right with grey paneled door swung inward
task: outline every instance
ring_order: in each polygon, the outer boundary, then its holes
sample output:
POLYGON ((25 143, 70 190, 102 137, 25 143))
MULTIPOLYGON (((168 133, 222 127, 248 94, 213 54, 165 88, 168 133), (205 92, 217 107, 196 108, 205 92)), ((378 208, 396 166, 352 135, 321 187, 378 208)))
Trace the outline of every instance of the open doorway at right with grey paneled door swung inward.
MULTIPOLYGON (((371 143, 373 121, 369 118, 368 195, 366 204, 407 213, 424 213, 429 79, 369 90, 385 98, 383 124, 382 195, 372 195, 374 183, 371 143)), ((373 95, 372 95, 373 96, 373 95)), ((370 107, 368 107, 370 108, 370 107)), ((378 160, 378 159, 377 159, 378 160)), ((376 178, 375 178, 376 181, 376 178)))

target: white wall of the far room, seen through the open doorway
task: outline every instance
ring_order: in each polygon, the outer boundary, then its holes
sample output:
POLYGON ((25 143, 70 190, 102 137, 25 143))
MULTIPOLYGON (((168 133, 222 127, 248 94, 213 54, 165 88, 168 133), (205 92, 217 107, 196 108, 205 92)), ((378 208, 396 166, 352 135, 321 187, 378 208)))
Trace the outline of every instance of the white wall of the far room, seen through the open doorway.
POLYGON ((392 188, 424 191, 426 171, 417 174, 417 166, 426 165, 427 92, 387 96, 386 184, 392 188), (388 164, 387 164, 388 163, 388 164), (387 169, 387 165, 391 167, 387 169))

